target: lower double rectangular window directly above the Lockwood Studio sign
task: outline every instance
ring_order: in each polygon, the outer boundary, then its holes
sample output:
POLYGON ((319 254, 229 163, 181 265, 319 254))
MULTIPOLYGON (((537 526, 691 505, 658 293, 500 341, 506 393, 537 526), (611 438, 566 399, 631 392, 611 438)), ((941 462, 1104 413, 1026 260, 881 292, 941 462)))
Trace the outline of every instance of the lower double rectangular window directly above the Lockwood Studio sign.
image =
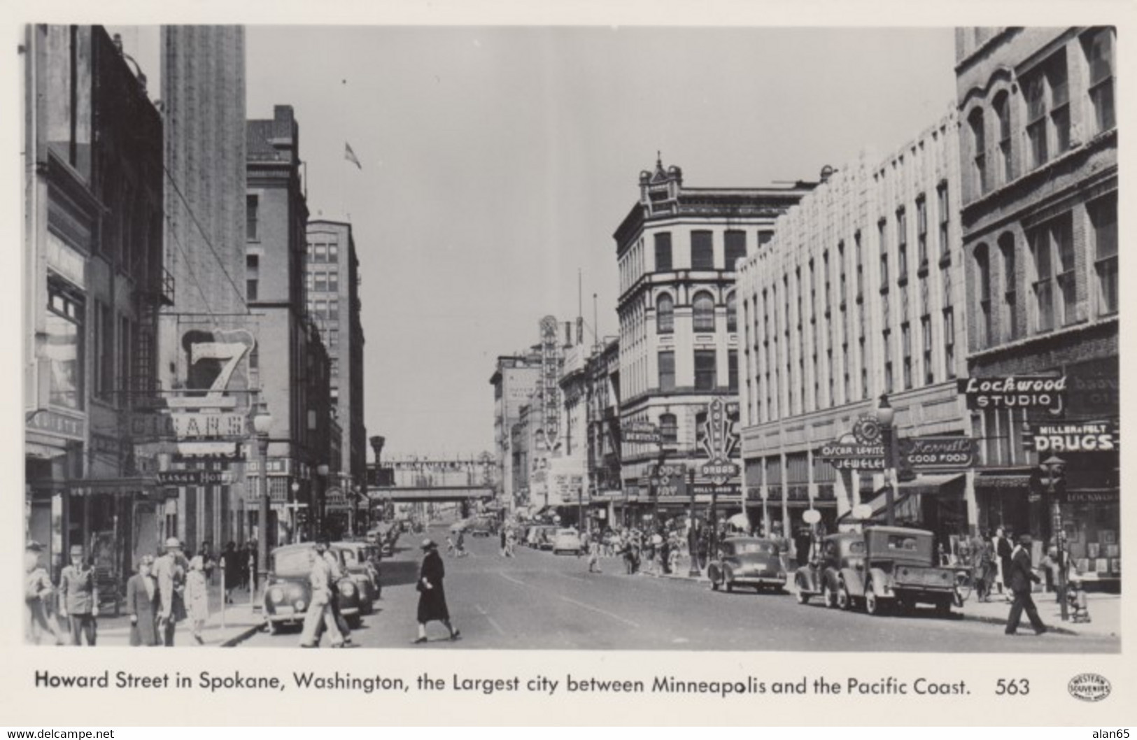
POLYGON ((1035 260, 1035 331, 1074 321, 1073 219, 1069 213, 1028 233, 1035 260))

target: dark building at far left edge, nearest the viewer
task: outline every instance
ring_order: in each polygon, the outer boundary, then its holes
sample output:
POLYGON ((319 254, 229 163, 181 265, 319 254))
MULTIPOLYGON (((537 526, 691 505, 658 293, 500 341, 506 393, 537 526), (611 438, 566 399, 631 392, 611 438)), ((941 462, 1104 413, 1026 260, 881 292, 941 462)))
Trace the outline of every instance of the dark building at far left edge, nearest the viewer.
POLYGON ((22 51, 26 534, 55 567, 84 546, 121 587, 160 524, 156 460, 127 422, 156 402, 169 299, 163 124, 101 26, 28 25, 22 51))

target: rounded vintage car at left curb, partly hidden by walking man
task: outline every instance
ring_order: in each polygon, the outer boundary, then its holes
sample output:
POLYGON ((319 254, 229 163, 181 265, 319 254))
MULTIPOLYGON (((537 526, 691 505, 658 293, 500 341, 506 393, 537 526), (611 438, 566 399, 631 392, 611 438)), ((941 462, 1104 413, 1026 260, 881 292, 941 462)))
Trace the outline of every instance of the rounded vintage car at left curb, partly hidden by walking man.
MULTIPOLYGON (((348 574, 343 555, 331 550, 340 560, 342 577, 335 590, 340 598, 340 613, 351 627, 359 625, 359 589, 348 574)), ((264 614, 268 631, 276 634, 284 625, 304 624, 304 616, 312 604, 312 564, 318 557, 312 542, 285 544, 268 555, 268 574, 265 582, 264 614)))

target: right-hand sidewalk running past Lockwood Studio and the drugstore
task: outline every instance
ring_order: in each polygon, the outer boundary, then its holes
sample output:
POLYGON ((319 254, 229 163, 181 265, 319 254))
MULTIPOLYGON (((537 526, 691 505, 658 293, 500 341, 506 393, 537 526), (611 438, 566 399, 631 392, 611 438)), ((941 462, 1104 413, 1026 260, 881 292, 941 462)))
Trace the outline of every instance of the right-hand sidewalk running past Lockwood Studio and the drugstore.
MULTIPOLYGON (((623 563, 620 563, 620 567, 623 567, 623 563)), ((661 575, 658 577, 709 583, 706 573, 700 573, 697 579, 689 576, 689 568, 690 558, 680 556, 675 573, 661 575)), ((794 585, 794 569, 795 568, 791 568, 789 571, 790 582, 786 587, 786 590, 789 593, 797 592, 797 589, 794 585)), ((646 573, 644 569, 640 569, 639 575, 653 577, 650 573, 646 573)), ((1073 621, 1063 622, 1061 607, 1055 604, 1053 593, 1039 592, 1035 593, 1034 597, 1035 605, 1038 606, 1038 615, 1043 617, 1043 622, 1051 629, 1052 632, 1057 632, 1060 634, 1088 634, 1104 638, 1121 637, 1120 595, 1096 592, 1087 593, 1086 597, 1088 599, 1089 616, 1092 622, 1082 623, 1074 623, 1073 621)), ((953 610, 962 613, 964 620, 1005 625, 1007 614, 1011 610, 1011 604, 1010 601, 1005 601, 1002 595, 993 597, 988 602, 981 602, 974 597, 974 595, 972 595, 971 598, 964 601, 962 608, 953 610)), ((1023 615, 1023 624, 1020 627, 1020 631, 1030 631, 1030 624, 1027 622, 1026 615, 1023 615)))

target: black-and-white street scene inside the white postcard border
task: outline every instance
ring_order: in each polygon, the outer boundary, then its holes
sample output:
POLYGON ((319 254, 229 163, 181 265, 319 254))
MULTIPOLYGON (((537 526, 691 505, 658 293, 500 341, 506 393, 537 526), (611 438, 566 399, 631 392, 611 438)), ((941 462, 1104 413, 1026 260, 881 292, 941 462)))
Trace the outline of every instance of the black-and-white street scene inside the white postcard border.
POLYGON ((1117 27, 647 20, 23 27, 25 643, 1121 652, 1117 27))

